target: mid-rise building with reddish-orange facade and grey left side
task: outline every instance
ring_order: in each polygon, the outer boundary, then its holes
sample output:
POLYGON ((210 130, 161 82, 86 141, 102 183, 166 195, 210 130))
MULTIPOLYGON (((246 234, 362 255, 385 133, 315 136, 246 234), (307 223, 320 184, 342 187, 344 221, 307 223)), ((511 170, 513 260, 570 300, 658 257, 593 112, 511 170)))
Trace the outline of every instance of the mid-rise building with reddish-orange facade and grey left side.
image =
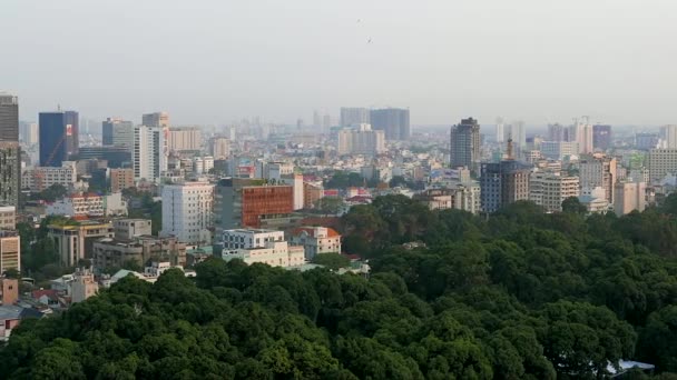
POLYGON ((215 191, 214 223, 217 230, 259 228, 262 220, 294 211, 294 187, 264 184, 264 180, 225 178, 215 191))

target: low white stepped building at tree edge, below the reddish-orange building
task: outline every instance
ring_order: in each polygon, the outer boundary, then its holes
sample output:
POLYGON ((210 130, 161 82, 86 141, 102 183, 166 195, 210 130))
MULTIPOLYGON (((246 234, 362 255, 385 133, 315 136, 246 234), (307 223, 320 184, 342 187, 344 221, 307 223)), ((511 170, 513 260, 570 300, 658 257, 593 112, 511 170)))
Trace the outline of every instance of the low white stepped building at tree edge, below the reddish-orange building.
POLYGON ((290 246, 284 232, 273 230, 225 230, 222 258, 241 259, 247 264, 256 262, 271 267, 296 267, 305 263, 304 248, 290 246))

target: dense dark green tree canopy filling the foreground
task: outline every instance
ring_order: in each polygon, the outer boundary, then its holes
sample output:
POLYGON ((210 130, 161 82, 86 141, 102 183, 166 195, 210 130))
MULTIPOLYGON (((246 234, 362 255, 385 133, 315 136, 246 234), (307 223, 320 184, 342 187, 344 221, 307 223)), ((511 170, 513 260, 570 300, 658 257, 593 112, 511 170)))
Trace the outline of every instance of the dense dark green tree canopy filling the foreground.
POLYGON ((217 259, 195 281, 127 278, 24 321, 0 378, 586 379, 619 359, 677 371, 677 202, 621 218, 568 203, 485 219, 377 198, 343 218, 370 279, 217 259))

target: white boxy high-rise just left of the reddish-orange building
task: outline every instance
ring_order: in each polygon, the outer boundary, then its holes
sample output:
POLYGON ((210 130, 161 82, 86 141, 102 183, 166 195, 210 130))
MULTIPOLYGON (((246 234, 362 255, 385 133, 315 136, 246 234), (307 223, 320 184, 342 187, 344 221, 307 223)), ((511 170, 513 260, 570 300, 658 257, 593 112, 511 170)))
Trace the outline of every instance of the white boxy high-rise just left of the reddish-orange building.
POLYGON ((214 184, 185 182, 163 187, 161 236, 175 236, 189 246, 212 242, 214 184))

